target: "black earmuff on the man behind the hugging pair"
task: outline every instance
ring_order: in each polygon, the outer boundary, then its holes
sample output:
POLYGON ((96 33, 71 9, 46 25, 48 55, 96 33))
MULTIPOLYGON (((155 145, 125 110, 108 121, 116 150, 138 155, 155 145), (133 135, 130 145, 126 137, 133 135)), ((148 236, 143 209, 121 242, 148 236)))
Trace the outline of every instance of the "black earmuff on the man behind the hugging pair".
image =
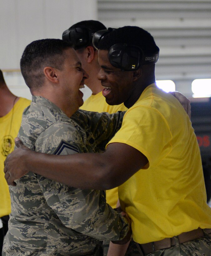
POLYGON ((71 42, 73 48, 78 50, 91 45, 94 33, 94 31, 91 31, 87 27, 70 27, 63 32, 62 40, 71 42))

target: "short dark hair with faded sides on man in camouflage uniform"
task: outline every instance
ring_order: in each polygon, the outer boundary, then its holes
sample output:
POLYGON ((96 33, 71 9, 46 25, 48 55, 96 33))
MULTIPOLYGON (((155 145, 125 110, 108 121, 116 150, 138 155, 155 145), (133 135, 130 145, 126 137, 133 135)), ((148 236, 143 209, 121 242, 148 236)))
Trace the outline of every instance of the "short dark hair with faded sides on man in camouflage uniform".
POLYGON ((65 60, 63 52, 71 47, 70 42, 61 39, 41 39, 27 45, 20 66, 22 76, 30 90, 42 87, 44 67, 52 66, 62 70, 65 60))

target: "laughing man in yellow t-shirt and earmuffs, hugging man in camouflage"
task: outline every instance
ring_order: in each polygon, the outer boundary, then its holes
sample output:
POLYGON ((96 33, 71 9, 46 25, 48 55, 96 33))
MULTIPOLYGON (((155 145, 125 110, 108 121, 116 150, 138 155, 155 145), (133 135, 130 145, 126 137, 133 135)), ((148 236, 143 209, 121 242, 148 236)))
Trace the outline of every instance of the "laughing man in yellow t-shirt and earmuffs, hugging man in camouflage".
MULTIPOLYGON (((159 48, 139 27, 98 32, 95 38, 106 102, 128 107, 121 129, 103 154, 48 156, 19 142, 21 149, 6 163, 8 183, 33 170, 75 187, 120 186, 121 207, 144 255, 210 255, 211 209, 199 145, 179 102, 155 84, 159 48)), ((109 253, 123 255, 120 246, 109 253)))

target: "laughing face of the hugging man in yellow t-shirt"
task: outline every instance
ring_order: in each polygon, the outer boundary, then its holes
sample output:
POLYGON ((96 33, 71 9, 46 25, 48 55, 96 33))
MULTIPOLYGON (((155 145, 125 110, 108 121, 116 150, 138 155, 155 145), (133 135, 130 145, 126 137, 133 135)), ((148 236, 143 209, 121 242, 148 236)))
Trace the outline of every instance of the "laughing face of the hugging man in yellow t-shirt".
POLYGON ((98 51, 98 62, 101 69, 97 78, 101 85, 105 86, 102 93, 109 105, 126 103, 130 106, 131 97, 134 93, 133 71, 121 71, 112 66, 108 59, 108 51, 98 51))

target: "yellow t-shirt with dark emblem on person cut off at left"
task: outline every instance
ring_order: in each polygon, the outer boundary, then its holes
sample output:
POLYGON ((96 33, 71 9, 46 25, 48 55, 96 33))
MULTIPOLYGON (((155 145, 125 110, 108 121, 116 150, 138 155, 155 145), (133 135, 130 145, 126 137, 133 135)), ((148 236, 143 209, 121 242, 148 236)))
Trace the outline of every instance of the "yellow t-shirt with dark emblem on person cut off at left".
POLYGON ((4 160, 14 149, 14 138, 21 126, 22 113, 30 100, 20 98, 7 115, 0 117, 0 217, 10 214, 10 195, 4 178, 4 160))

